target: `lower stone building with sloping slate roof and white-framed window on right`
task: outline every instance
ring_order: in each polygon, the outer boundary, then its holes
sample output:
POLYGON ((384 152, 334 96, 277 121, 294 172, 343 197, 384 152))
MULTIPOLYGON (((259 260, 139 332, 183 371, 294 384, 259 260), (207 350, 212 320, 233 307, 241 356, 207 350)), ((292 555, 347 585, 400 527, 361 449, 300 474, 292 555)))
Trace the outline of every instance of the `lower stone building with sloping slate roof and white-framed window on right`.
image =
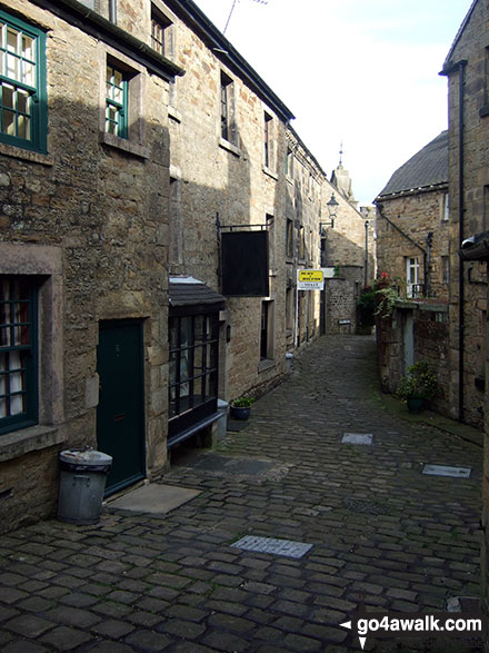
POLYGON ((396 392, 416 360, 428 360, 451 414, 449 333, 448 131, 401 166, 376 199, 379 271, 390 275, 402 301, 378 324, 382 387, 396 392))

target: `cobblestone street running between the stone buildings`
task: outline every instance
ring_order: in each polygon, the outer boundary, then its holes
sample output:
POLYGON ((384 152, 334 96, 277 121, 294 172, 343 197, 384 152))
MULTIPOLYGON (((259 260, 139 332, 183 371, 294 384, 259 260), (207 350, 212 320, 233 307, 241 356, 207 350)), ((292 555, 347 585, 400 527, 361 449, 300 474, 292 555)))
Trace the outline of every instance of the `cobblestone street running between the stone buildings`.
MULTIPOLYGON (((373 338, 322 337, 246 428, 173 456, 163 482, 200 491, 192 501, 167 515, 109 503, 94 526, 52 520, 3 536, 0 650, 359 651, 339 624, 361 604, 442 611, 478 596, 481 454, 386 409, 373 338), (297 558, 231 546, 246 535, 312 546, 297 558)), ((481 647, 369 636, 365 650, 481 647)))

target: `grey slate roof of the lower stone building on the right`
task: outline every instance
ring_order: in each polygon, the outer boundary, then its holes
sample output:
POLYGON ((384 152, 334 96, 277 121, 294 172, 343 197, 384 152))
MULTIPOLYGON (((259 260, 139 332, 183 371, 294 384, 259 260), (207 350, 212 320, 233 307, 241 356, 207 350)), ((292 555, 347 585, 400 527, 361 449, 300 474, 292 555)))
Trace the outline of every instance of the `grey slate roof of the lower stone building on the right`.
POLYGON ((448 184, 448 131, 442 131, 396 170, 378 197, 427 190, 446 184, 448 184))

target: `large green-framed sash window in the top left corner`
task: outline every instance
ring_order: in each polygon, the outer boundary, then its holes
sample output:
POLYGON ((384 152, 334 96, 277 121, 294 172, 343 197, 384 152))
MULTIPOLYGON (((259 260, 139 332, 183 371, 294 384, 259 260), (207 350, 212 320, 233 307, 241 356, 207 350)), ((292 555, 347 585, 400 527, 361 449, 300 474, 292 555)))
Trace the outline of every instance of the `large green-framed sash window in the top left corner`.
POLYGON ((46 34, 0 11, 0 140, 47 151, 46 34))

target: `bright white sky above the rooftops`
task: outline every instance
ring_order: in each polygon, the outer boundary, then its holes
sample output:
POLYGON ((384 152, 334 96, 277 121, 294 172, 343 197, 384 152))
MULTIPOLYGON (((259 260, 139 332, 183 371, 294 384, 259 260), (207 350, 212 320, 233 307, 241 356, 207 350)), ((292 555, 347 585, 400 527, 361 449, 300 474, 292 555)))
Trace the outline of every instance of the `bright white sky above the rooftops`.
MULTIPOLYGON (((233 0, 194 0, 223 31, 233 0)), ((330 177, 372 201, 447 129, 442 68, 471 0, 237 0, 226 37, 296 116, 330 177)))

